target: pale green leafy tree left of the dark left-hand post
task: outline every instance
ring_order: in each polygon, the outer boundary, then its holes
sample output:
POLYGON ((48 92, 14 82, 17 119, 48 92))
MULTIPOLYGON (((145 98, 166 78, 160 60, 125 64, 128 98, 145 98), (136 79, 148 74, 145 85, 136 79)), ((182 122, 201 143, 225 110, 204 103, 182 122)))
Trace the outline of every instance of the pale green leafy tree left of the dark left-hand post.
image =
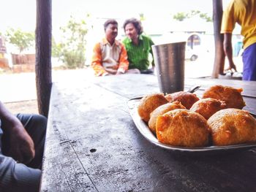
POLYGON ((21 31, 19 28, 10 28, 5 36, 7 42, 18 47, 20 53, 34 46, 34 33, 21 31))

